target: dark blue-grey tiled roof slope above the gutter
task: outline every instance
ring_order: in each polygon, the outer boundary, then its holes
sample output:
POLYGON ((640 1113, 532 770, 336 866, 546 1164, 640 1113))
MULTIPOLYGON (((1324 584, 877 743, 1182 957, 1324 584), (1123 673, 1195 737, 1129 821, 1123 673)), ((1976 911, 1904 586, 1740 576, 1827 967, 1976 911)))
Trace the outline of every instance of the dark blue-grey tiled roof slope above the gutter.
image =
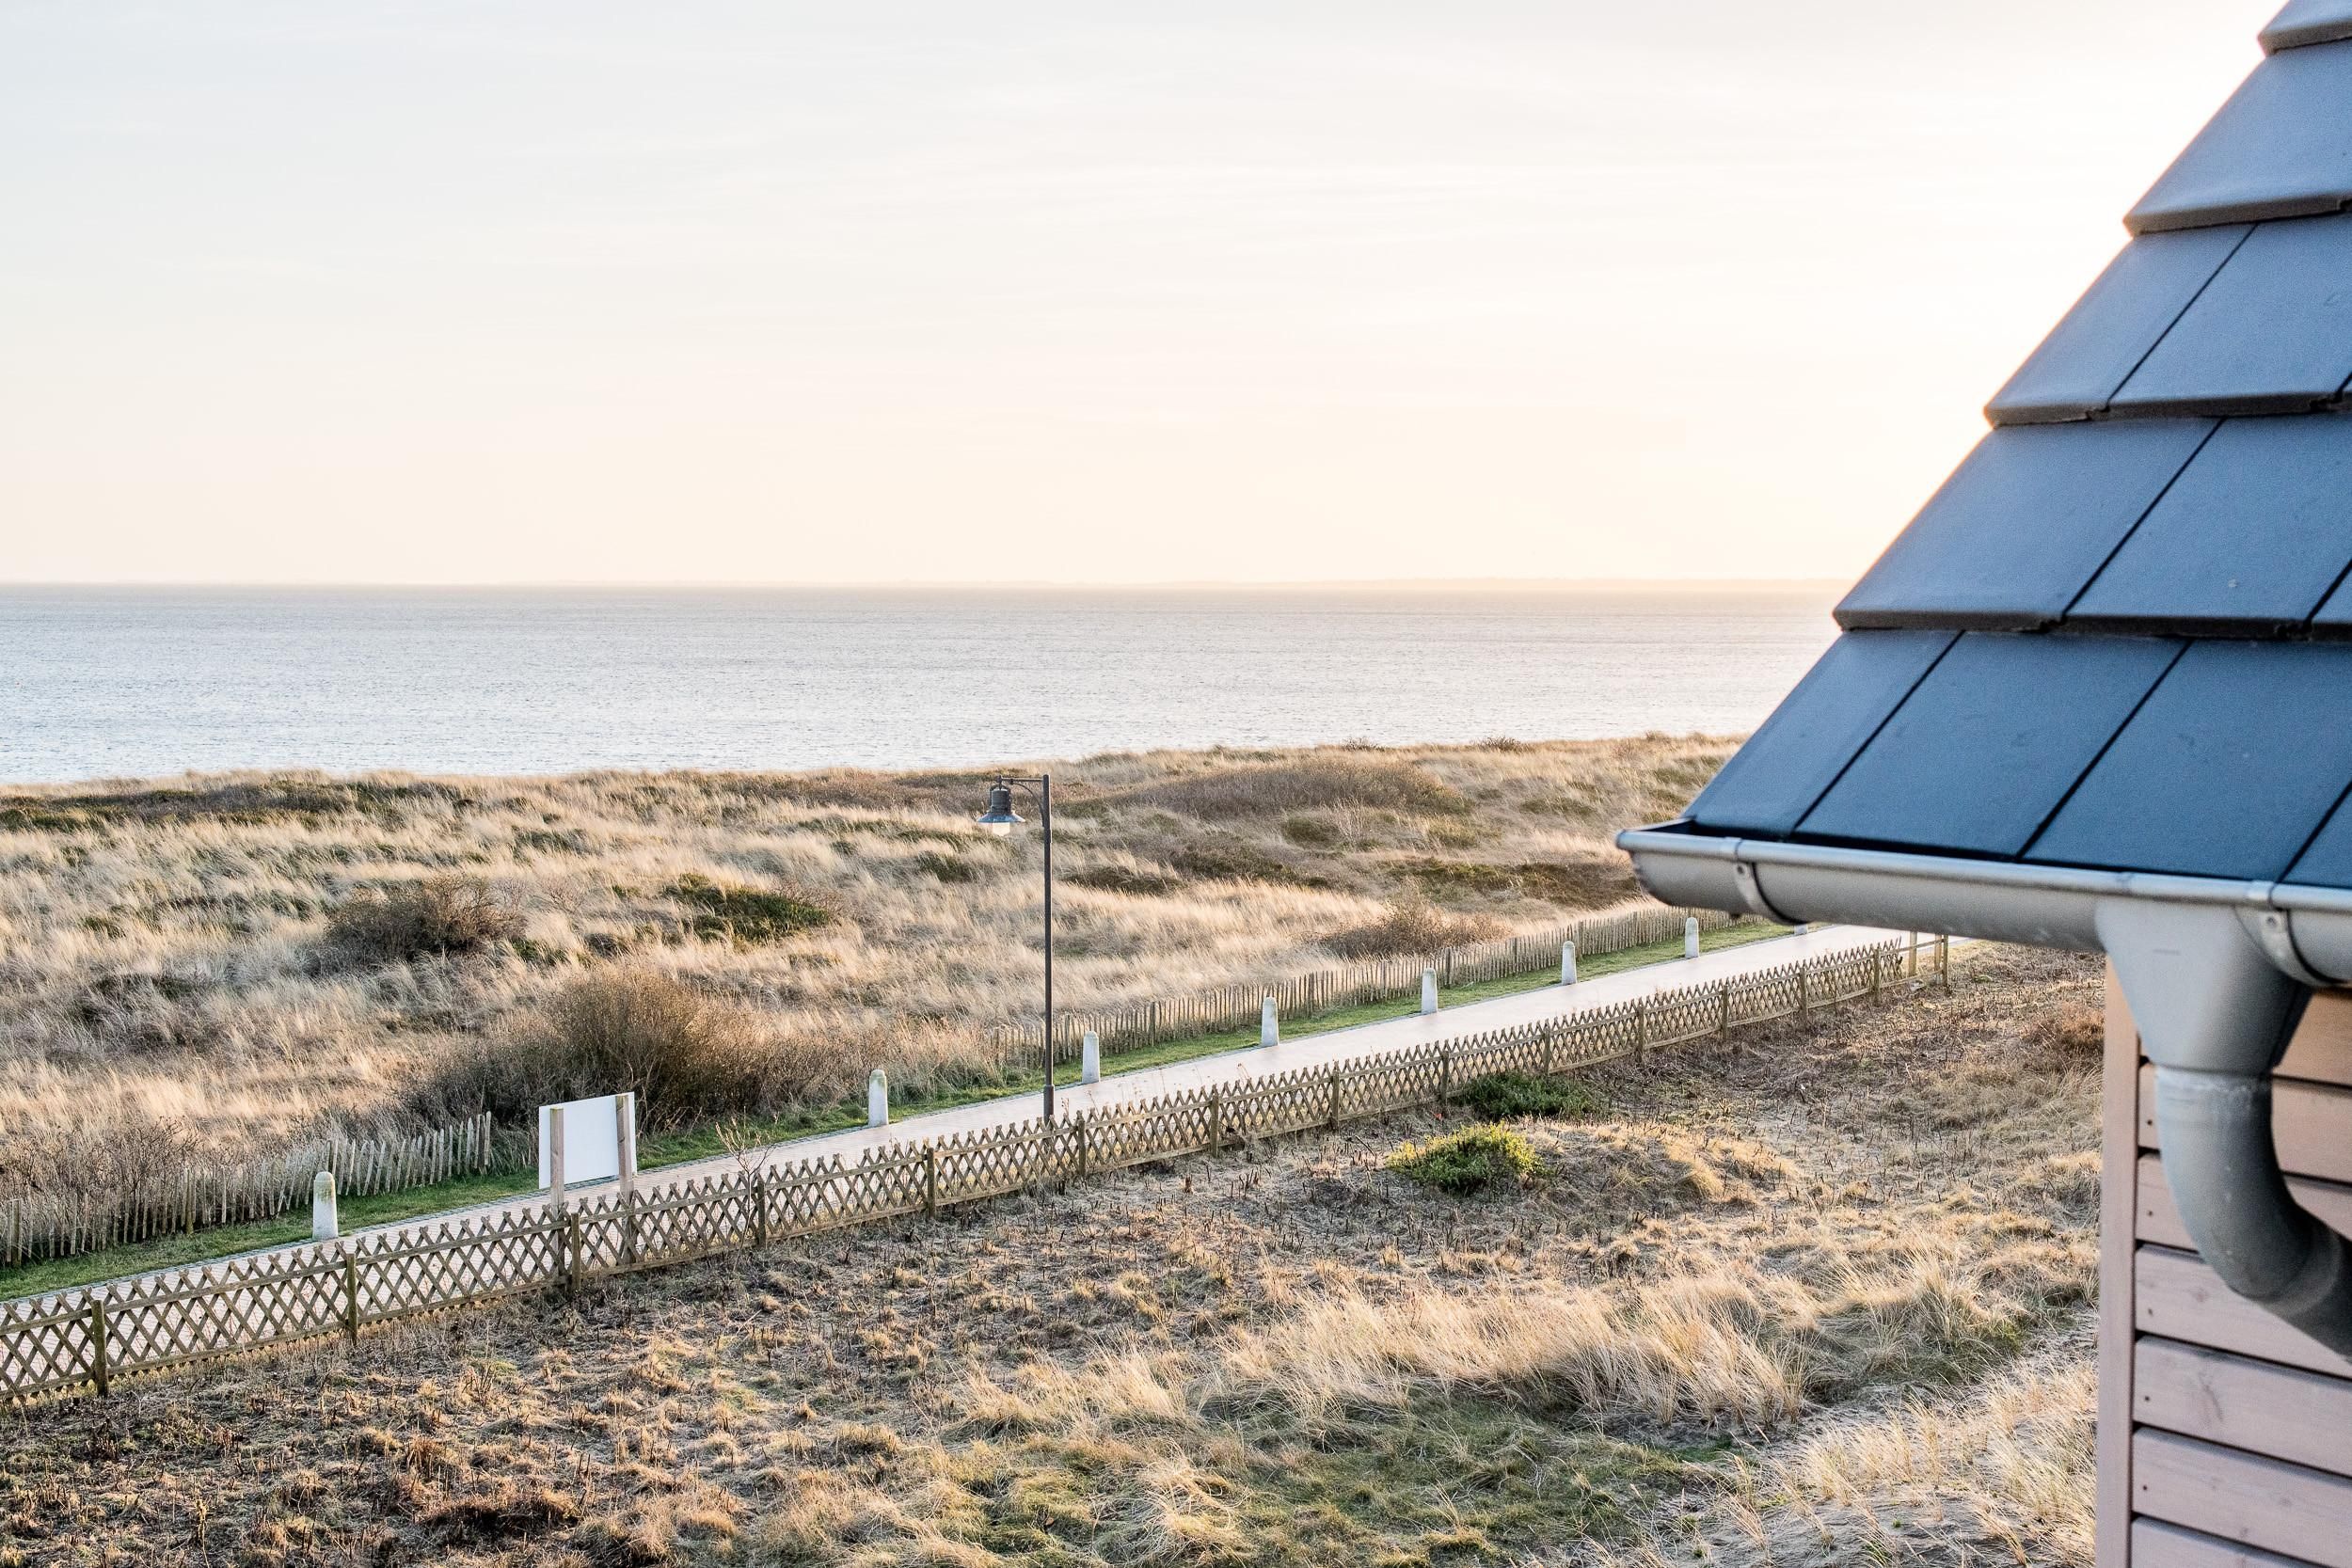
POLYGON ((2352 0, 2263 47, 1691 832, 2352 889, 2352 0))

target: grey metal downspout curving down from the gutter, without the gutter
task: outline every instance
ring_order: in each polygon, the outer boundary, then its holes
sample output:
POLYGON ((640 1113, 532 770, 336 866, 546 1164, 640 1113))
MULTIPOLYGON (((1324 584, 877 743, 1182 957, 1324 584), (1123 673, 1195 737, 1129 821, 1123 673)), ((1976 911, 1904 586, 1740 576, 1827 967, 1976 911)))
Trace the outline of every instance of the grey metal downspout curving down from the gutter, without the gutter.
POLYGON ((2157 1138, 2180 1225, 2223 1284, 2352 1356, 2352 1251, 2296 1204, 2270 1070, 2310 987, 2225 907, 2112 900, 2098 936, 2157 1067, 2157 1138))

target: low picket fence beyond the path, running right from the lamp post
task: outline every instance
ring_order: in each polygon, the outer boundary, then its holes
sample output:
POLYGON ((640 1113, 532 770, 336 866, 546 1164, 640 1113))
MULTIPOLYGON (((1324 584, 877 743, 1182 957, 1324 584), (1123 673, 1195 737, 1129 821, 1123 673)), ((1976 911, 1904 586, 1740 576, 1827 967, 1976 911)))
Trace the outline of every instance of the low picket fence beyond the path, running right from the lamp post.
MULTIPOLYGON (((1277 1018, 1312 1018, 1336 1006, 1418 997, 1423 969, 1435 969, 1437 985, 1444 987, 1538 973, 1559 966, 1562 943, 1576 943, 1578 957, 1597 959, 1609 952, 1625 952, 1628 947, 1675 940, 1682 936, 1682 922, 1691 914, 1698 917, 1700 931, 1719 931, 1733 924, 1733 917, 1722 910, 1628 905, 1588 914, 1550 931, 1439 947, 1414 957, 1362 959, 1277 980, 1242 980, 1183 997, 1155 997, 1117 1009, 1056 1009, 1054 1060, 1075 1063, 1080 1039, 1087 1032, 1101 1037, 1103 1056, 1117 1056, 1120 1051, 1141 1051, 1169 1039, 1249 1030, 1258 1025, 1258 1009, 1265 997, 1275 999, 1277 1018)), ((988 1044, 1002 1058, 1035 1060, 1035 1053, 1044 1044, 1044 1020, 988 1030, 988 1044)))

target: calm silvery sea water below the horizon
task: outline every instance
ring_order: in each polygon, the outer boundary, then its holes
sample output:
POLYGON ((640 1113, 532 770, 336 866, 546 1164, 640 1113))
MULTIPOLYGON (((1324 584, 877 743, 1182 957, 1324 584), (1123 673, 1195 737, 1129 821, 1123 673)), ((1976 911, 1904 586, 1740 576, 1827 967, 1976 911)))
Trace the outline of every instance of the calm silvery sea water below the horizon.
POLYGON ((1745 731, 1830 597, 0 590, 0 778, 974 766, 1745 731))

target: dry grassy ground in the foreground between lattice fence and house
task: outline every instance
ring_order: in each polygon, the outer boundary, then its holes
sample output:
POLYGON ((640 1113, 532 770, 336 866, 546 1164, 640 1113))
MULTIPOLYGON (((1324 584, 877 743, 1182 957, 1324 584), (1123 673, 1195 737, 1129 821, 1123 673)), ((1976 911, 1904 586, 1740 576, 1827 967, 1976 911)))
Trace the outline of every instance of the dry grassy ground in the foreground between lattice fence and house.
POLYGON ((45 1408, 0 1563, 2089 1563, 2089 961, 45 1408))

